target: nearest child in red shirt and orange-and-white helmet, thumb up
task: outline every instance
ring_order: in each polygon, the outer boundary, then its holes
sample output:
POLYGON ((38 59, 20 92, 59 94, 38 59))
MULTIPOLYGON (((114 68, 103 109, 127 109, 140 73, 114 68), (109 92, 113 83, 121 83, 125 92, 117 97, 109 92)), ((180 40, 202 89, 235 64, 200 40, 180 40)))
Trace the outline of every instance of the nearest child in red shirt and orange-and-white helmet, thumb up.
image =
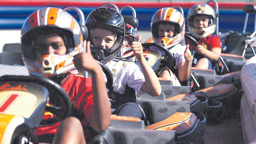
POLYGON ((36 129, 37 134, 55 133, 53 143, 86 143, 89 129, 104 131, 110 124, 111 109, 101 66, 90 53, 81 53, 83 34, 77 21, 59 8, 42 8, 24 22, 21 33, 23 61, 29 74, 44 76, 61 84, 82 120, 68 117, 51 127, 36 129), (63 23, 65 22, 65 23, 63 23), (73 57, 74 56, 74 57, 73 57), (71 74, 86 70, 92 79, 71 74))

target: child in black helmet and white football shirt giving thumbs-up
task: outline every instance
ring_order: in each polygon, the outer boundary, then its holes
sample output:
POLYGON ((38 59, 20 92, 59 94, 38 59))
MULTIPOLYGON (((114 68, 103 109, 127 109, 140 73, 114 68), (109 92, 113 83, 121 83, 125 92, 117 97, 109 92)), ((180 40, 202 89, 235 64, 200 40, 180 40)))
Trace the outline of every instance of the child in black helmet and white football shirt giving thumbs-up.
MULTIPOLYGON (((125 23, 119 12, 112 8, 100 7, 88 15, 85 23, 89 30, 94 58, 104 63, 112 72, 114 92, 124 94, 126 86, 129 86, 138 93, 160 95, 160 83, 143 56, 142 45, 139 42, 141 36, 137 42, 132 42, 132 49, 143 73, 134 62, 117 57, 125 36, 125 23)), ((138 104, 131 102, 112 109, 112 114, 141 118, 138 104)))

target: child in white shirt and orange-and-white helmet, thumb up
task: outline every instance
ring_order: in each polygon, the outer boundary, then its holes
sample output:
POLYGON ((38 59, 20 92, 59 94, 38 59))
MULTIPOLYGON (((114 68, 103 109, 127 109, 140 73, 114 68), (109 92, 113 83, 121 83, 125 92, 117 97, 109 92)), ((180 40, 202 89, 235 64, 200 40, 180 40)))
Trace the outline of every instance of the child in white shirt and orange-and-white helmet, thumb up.
MULTIPOLYGON (((174 8, 157 10, 151 19, 151 32, 154 42, 168 48, 174 56, 179 80, 188 80, 192 56, 189 45, 182 46, 179 44, 185 34, 185 21, 182 14, 174 8)), ((168 67, 164 67, 158 73, 160 78, 172 80, 174 86, 180 86, 179 81, 168 67)))

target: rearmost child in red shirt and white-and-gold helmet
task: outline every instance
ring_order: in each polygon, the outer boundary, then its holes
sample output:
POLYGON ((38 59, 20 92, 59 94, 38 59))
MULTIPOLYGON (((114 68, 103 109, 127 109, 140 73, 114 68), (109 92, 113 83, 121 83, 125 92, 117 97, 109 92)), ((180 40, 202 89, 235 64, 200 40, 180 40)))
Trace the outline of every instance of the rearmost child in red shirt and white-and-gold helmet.
POLYGON ((213 34, 216 28, 216 13, 208 4, 196 4, 189 9, 188 27, 190 34, 198 40, 194 45, 190 40, 186 44, 195 50, 198 56, 195 67, 213 69, 212 62, 218 61, 221 55, 221 41, 213 34))

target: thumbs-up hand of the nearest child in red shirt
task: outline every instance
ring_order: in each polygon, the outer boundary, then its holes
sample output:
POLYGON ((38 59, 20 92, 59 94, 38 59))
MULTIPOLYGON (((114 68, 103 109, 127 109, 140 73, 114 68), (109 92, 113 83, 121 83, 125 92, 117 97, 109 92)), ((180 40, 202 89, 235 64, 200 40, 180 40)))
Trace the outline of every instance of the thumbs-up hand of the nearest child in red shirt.
POLYGON ((91 54, 90 41, 86 42, 86 52, 74 56, 74 65, 79 70, 86 70, 88 72, 95 72, 100 65, 95 61, 91 54))

